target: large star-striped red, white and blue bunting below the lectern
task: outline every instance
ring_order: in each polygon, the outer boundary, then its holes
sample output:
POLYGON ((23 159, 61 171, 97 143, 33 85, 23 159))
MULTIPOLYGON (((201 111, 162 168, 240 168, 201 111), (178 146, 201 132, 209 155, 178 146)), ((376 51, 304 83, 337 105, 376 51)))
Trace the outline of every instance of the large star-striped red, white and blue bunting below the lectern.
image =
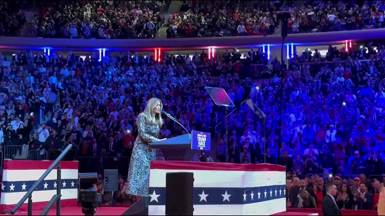
POLYGON ((194 173, 194 215, 270 215, 286 211, 283 166, 151 161, 149 215, 166 213, 169 172, 194 173))

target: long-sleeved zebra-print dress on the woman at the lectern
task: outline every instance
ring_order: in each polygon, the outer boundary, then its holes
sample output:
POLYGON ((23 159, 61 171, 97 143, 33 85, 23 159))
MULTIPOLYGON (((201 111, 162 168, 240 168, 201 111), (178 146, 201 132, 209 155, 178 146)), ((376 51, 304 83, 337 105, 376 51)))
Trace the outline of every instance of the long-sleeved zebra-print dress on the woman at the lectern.
POLYGON ((136 196, 148 195, 150 177, 150 161, 155 160, 156 151, 151 143, 158 141, 159 126, 146 125, 146 115, 140 113, 136 120, 138 136, 132 149, 131 161, 128 168, 128 186, 126 194, 136 196))

